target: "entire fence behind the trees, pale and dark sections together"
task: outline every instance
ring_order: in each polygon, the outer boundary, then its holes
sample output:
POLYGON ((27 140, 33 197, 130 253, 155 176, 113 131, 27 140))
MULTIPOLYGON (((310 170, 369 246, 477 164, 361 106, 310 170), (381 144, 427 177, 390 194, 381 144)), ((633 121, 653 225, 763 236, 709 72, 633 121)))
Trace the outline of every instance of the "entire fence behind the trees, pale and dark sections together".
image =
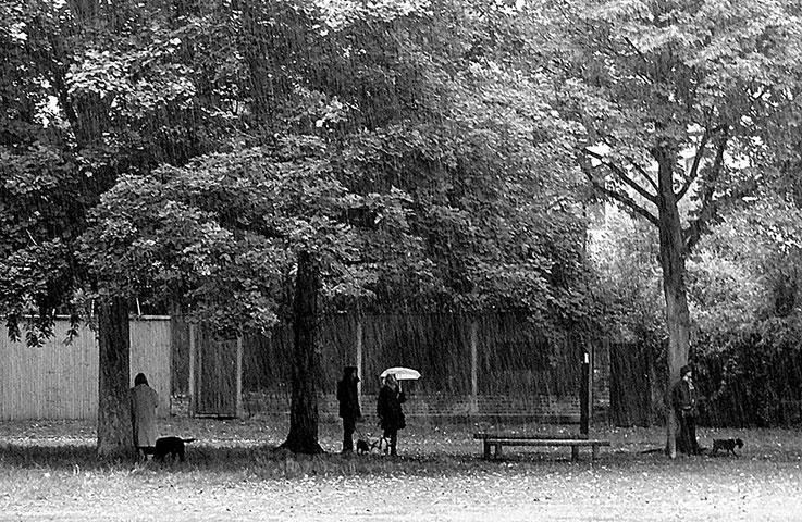
MULTIPOLYGON (((594 355, 594 406, 609 403, 605 349, 593 350, 593 343, 573 336, 547 341, 518 318, 337 315, 321 323, 318 388, 324 417, 336 417, 335 384, 343 365, 354 364, 368 412, 379 373, 409 365, 423 374, 407 385, 416 399, 407 405, 410 414, 578 419, 579 369, 588 349, 594 355)), ((95 332, 84 327, 65 345, 66 330, 66 321, 59 321, 55 337, 35 348, 0 332, 0 420, 97 418, 95 332)), ((161 417, 288 411, 292 328, 238 341, 189 330, 180 318, 131 322, 132 383, 138 372, 148 376, 161 417)))

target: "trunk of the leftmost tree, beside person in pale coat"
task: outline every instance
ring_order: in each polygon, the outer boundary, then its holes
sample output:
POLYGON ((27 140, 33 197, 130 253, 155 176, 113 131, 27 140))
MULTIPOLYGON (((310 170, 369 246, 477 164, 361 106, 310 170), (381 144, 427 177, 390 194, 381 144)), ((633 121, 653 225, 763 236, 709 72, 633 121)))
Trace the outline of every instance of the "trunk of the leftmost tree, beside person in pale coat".
POLYGON ((131 337, 128 306, 112 298, 100 304, 98 316, 98 457, 134 457, 134 430, 131 423, 131 337))

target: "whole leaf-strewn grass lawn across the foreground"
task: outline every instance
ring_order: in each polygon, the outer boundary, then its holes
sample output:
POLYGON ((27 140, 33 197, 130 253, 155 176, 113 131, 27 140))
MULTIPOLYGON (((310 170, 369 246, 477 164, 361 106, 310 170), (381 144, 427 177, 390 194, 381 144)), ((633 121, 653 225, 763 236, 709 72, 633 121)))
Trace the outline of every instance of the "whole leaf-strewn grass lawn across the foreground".
POLYGON ((662 428, 597 426, 612 446, 595 462, 588 449, 571 462, 568 448, 484 461, 472 433, 486 424, 409 424, 397 459, 337 455, 336 423, 321 424, 332 452, 310 458, 273 451, 285 419, 169 419, 160 433, 198 438, 187 462, 143 465, 96 463, 91 423, 0 423, 0 520, 802 520, 799 431, 701 430, 703 446, 735 435, 747 445, 739 458, 670 461, 642 452, 663 445, 662 428))

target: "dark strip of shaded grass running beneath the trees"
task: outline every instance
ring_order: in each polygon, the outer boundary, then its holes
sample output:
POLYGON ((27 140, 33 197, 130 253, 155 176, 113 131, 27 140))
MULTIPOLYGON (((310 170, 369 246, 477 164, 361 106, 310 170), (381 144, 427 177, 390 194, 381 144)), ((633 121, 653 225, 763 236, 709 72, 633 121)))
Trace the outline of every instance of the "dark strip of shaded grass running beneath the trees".
POLYGON ((589 455, 581 455, 572 462, 566 451, 509 452, 502 459, 484 460, 472 451, 439 451, 425 455, 402 453, 400 457, 384 455, 348 455, 336 452, 314 456, 294 455, 276 450, 273 445, 256 446, 214 446, 189 444, 186 461, 164 462, 150 460, 137 463, 134 460, 116 462, 100 461, 94 445, 41 445, 0 444, 0 468, 7 469, 49 469, 53 471, 120 471, 155 473, 203 473, 209 475, 239 473, 255 478, 294 478, 303 476, 353 476, 387 475, 404 473, 417 476, 439 476, 466 472, 504 472, 536 467, 555 472, 573 469, 606 468, 617 470, 640 470, 645 467, 677 467, 679 469, 721 469, 748 462, 781 463, 801 461, 799 450, 774 452, 772 455, 743 455, 739 458, 728 456, 679 457, 671 461, 664 453, 644 455, 641 451, 603 452, 599 460, 591 461, 589 455))

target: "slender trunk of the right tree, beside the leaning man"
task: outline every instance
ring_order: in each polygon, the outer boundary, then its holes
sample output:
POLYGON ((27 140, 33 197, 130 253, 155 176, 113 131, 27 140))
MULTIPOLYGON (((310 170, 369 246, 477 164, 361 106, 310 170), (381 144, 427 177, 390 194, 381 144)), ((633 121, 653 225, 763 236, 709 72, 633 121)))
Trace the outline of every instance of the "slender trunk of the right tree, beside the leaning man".
POLYGON ((666 299, 668 326, 668 386, 666 389, 666 448, 670 458, 677 457, 677 419, 670 405, 670 389, 679 380, 679 369, 688 362, 690 313, 686 294, 686 259, 682 223, 674 192, 676 152, 669 145, 655 149, 659 179, 659 254, 663 269, 663 293, 666 299))

